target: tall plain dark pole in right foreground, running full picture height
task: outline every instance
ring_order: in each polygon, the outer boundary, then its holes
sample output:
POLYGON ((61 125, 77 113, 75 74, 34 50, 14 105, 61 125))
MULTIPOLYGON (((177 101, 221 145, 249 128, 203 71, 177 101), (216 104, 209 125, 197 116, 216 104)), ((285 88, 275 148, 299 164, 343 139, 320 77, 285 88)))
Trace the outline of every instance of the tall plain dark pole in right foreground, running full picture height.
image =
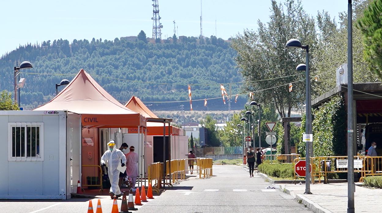
POLYGON ((354 213, 353 16, 348 0, 348 213, 354 213))

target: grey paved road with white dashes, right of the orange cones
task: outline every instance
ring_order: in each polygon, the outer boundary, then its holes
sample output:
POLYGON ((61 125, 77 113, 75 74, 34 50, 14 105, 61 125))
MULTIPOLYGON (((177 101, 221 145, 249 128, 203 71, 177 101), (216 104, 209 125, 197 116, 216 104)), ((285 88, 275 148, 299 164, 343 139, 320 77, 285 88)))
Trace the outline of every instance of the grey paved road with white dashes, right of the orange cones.
POLYGON ((269 183, 238 166, 214 166, 214 177, 190 179, 167 190, 137 212, 311 212, 269 183))

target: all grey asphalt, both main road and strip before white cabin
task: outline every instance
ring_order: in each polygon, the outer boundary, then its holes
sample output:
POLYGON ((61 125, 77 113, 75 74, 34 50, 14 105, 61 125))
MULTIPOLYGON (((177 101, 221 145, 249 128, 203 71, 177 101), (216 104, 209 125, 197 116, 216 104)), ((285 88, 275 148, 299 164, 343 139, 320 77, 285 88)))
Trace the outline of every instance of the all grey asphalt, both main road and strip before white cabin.
MULTIPOLYGON (((138 213, 221 213, 221 212, 311 212, 290 195, 278 189, 266 189, 270 184, 262 178, 249 178, 248 171, 238 166, 214 166, 214 176, 198 179, 197 175, 168 189, 155 199, 138 207, 138 213)), ((92 199, 102 211, 112 210, 113 200, 108 196, 92 199)), ((0 200, 0 213, 79 213, 87 212, 89 199, 70 200, 0 200)), ((121 200, 118 200, 118 208, 121 200)))

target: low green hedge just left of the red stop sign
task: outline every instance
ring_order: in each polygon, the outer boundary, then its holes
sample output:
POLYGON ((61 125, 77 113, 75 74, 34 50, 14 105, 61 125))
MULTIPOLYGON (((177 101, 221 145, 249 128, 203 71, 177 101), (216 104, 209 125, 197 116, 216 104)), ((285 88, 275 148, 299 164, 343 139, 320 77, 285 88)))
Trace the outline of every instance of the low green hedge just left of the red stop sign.
POLYGON ((269 162, 265 161, 264 163, 260 164, 257 169, 261 173, 277 178, 293 178, 295 173, 292 163, 270 164, 269 162))

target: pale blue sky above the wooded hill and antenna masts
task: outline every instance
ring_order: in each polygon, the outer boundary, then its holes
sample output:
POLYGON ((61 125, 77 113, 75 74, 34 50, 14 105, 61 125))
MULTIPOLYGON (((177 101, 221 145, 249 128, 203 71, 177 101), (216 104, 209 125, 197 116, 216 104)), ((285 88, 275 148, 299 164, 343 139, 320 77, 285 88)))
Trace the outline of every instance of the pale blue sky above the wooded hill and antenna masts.
MULTIPOLYGON (((257 29, 257 20, 269 20, 270 0, 202 0, 203 34, 227 39, 243 29, 257 29)), ((283 2, 278 0, 278 2, 283 2)), ((338 13, 347 10, 346 0, 302 0, 304 10, 316 16, 329 11, 338 21, 338 13)), ((173 20, 178 35, 200 34, 200 0, 159 0, 162 38, 173 35, 173 20)), ((0 55, 19 44, 44 40, 103 40, 138 35, 140 30, 152 36, 151 0, 18 0, 3 1, 0 7, 0 55)))

